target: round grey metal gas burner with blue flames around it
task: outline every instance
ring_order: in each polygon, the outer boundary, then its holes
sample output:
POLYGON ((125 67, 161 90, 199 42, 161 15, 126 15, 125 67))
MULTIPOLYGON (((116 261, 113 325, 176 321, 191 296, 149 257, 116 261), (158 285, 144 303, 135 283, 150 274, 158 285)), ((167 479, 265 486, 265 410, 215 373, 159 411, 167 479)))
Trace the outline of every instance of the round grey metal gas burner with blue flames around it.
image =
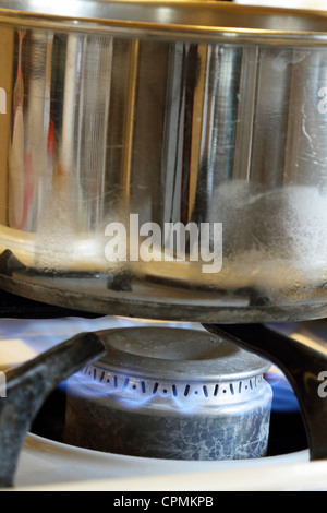
POLYGON ((173 460, 266 455, 269 362, 198 330, 99 335, 106 356, 68 381, 66 443, 173 460))

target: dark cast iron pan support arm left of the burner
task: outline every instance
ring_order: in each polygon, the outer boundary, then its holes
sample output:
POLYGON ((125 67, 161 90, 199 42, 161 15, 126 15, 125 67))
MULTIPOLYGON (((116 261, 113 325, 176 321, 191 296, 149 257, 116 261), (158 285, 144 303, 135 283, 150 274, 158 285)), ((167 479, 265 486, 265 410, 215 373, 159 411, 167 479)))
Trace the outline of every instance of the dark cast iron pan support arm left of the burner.
POLYGON ((82 333, 9 371, 1 382, 0 487, 11 487, 26 433, 49 393, 105 354, 98 335, 82 333))

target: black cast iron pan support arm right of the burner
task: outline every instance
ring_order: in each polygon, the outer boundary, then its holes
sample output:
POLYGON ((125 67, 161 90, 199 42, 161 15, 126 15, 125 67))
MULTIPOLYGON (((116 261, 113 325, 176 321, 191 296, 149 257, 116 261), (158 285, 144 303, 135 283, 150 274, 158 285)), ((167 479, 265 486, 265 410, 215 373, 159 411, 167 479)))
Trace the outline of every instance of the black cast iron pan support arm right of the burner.
POLYGON ((204 324, 210 333, 268 359, 283 371, 298 397, 306 429, 311 460, 327 458, 327 396, 320 372, 327 377, 326 345, 298 342, 261 324, 204 324))

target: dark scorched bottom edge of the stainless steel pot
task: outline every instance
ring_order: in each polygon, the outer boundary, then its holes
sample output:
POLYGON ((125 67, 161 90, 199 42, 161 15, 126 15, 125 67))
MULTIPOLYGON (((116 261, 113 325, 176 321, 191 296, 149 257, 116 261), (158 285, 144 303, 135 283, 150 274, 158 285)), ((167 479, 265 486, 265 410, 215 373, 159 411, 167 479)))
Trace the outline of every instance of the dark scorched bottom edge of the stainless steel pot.
POLYGON ((187 289, 178 282, 160 283, 122 273, 40 272, 25 267, 9 250, 0 260, 0 287, 35 301, 99 315, 216 323, 298 322, 327 317, 326 284, 313 288, 310 300, 306 294, 306 300, 276 303, 251 287, 234 291, 187 289))

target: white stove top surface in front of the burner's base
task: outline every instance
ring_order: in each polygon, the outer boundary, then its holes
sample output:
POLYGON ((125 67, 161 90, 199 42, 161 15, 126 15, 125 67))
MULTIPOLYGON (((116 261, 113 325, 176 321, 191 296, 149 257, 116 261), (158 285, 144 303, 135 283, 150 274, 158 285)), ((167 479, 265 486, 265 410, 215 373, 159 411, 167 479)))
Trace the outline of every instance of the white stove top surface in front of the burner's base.
POLYGON ((326 489, 327 462, 308 452, 237 462, 184 462, 107 454, 28 434, 14 490, 229 491, 326 489))

